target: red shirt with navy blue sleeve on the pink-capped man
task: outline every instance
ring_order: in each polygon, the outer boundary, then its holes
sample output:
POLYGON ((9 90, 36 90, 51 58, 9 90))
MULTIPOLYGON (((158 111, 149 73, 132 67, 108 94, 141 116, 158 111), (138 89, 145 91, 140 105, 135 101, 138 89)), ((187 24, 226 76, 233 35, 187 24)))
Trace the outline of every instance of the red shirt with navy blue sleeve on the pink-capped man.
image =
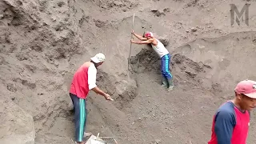
POLYGON ((246 144, 249 126, 250 112, 239 110, 233 102, 226 102, 214 114, 208 144, 246 144))

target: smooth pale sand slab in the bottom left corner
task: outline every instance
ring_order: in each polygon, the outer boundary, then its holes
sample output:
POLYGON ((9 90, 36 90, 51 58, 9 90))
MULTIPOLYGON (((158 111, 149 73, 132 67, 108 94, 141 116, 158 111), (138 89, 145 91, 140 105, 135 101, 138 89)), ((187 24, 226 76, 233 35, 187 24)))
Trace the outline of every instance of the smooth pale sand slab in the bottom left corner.
POLYGON ((34 121, 14 102, 0 100, 0 143, 34 144, 34 121))

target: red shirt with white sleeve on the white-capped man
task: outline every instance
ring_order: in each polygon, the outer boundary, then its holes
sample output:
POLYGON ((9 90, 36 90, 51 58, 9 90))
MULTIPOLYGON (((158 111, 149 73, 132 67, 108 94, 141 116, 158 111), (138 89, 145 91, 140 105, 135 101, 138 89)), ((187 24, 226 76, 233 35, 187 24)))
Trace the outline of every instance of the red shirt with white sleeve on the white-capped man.
POLYGON ((97 69, 92 62, 86 62, 75 72, 70 93, 85 99, 89 90, 96 87, 97 69))

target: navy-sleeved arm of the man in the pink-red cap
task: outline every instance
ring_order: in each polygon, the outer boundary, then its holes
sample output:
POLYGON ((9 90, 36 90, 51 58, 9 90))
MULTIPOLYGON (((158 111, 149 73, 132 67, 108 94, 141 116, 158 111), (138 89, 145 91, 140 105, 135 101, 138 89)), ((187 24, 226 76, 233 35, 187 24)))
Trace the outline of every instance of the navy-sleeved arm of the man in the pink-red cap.
POLYGON ((214 130, 218 139, 218 144, 231 144, 234 126, 234 114, 227 110, 221 110, 216 114, 214 130))

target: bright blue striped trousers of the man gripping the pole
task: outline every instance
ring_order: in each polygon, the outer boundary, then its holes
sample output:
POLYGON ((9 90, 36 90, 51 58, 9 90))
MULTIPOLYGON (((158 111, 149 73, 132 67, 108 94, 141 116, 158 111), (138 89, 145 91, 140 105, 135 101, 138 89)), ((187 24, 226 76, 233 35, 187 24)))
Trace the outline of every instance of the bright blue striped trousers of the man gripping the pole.
POLYGON ((162 76, 167 78, 167 80, 170 80, 170 78, 173 78, 173 76, 170 74, 169 66, 170 66, 170 54, 166 54, 161 58, 161 71, 162 71, 162 76))

